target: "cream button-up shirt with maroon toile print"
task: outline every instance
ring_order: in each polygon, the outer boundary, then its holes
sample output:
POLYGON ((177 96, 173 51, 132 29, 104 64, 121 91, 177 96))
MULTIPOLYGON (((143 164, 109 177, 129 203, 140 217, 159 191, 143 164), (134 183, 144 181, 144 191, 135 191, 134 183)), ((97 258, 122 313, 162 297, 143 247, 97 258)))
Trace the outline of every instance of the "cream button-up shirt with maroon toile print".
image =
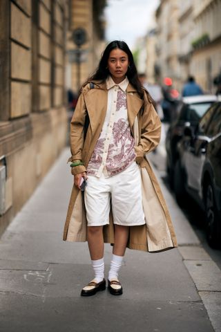
POLYGON ((108 105, 102 131, 97 140, 87 172, 100 177, 113 176, 131 165, 136 158, 134 139, 128 123, 126 88, 128 79, 115 84, 111 76, 106 80, 108 105))

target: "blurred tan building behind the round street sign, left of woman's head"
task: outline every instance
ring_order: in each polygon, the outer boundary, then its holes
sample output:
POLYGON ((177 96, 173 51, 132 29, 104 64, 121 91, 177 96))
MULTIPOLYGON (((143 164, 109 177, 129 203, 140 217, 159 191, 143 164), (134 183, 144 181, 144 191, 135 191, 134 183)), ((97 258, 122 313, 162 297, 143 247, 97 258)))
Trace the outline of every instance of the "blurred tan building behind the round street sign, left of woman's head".
POLYGON ((105 19, 103 16, 106 0, 71 0, 70 30, 68 32, 67 86, 78 93, 79 86, 86 81, 97 67, 104 50, 105 19), (86 43, 80 48, 79 83, 76 62, 77 46, 73 42, 73 31, 83 28, 86 43), (79 86, 78 86, 79 85, 79 86))

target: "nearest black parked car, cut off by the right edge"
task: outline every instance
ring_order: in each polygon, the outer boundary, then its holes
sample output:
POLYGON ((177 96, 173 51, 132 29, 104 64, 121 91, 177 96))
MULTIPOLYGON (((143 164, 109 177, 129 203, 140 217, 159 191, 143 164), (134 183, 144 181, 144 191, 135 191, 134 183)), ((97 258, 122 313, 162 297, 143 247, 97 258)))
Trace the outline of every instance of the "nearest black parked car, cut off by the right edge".
POLYGON ((206 235, 221 245, 221 102, 215 102, 195 129, 186 127, 177 145, 174 190, 178 203, 185 194, 206 212, 206 235))

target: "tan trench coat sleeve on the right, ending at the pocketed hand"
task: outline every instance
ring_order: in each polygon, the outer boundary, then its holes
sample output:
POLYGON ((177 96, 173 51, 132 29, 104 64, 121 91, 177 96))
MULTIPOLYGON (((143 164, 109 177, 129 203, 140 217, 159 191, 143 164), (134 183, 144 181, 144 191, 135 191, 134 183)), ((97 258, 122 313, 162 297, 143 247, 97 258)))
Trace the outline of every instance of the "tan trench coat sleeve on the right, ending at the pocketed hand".
POLYGON ((142 161, 144 154, 157 147, 161 136, 160 118, 146 94, 144 95, 144 109, 140 115, 140 127, 140 142, 135 147, 138 163, 142 161))

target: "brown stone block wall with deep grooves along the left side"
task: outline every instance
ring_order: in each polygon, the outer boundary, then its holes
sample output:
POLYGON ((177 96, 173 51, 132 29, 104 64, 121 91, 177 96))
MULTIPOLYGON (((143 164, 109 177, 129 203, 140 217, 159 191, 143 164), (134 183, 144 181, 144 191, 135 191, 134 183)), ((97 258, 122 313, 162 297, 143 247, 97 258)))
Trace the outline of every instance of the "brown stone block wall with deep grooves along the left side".
POLYGON ((69 2, 0 1, 0 234, 66 145, 69 2))

